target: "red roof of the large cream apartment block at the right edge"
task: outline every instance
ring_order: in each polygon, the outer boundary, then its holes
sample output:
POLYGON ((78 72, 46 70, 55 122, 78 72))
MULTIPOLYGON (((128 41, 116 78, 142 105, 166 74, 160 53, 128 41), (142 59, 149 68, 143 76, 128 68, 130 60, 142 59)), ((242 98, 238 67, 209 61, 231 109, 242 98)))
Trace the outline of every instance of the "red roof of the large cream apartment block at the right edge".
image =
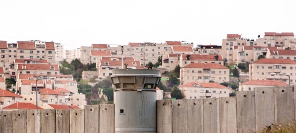
POLYGON ((260 58, 251 64, 296 64, 296 61, 291 59, 260 58))

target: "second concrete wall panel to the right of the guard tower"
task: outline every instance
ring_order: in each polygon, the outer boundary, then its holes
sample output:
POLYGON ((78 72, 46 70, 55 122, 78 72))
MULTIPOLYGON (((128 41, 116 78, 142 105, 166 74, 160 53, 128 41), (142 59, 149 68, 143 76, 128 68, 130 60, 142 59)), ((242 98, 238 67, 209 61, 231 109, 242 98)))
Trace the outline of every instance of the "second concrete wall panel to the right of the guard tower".
POLYGON ((187 133, 187 100, 173 100, 172 133, 187 133))

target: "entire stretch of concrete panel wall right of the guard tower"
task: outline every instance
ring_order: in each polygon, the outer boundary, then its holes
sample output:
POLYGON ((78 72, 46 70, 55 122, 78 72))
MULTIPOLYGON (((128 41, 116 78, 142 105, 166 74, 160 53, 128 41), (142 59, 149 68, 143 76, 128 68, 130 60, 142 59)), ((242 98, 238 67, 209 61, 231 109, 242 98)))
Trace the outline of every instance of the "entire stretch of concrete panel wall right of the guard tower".
POLYGON ((157 133, 256 133, 296 119, 295 87, 260 87, 219 99, 159 100, 157 133))

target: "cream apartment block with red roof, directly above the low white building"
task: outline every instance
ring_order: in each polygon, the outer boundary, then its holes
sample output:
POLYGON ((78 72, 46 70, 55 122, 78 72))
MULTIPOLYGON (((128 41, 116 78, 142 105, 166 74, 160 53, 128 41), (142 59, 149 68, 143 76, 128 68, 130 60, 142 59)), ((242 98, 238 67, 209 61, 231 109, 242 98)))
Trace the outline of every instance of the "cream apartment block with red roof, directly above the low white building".
POLYGON ((229 68, 218 63, 190 63, 180 69, 181 85, 188 82, 229 82, 229 68))

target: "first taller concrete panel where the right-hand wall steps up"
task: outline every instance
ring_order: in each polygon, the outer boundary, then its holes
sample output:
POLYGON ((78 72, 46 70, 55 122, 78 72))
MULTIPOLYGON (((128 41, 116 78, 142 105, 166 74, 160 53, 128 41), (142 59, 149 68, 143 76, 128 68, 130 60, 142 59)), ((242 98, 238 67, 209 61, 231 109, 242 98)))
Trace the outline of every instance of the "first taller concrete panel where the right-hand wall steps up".
POLYGON ((255 133, 255 92, 236 92, 237 133, 255 133))

